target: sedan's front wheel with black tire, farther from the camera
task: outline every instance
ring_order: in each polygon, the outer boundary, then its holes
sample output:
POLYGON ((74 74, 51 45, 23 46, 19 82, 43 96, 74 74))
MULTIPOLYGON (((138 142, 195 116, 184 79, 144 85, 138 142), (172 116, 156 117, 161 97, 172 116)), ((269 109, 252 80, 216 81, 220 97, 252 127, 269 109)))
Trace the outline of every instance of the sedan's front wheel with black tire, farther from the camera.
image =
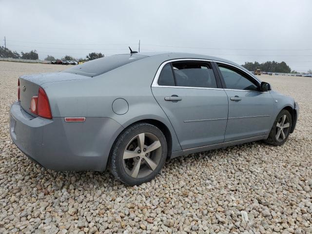
POLYGON ((285 143, 292 129, 292 116, 287 110, 282 110, 276 117, 266 143, 280 146, 285 143))

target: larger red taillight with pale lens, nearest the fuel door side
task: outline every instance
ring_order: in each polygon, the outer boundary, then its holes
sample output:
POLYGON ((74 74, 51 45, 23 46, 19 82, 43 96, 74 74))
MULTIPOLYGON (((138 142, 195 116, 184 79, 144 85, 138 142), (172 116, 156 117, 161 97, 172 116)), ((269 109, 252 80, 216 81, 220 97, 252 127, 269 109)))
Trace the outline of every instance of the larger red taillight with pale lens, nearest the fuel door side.
POLYGON ((52 118, 48 97, 40 87, 38 96, 31 98, 30 111, 40 117, 52 118))

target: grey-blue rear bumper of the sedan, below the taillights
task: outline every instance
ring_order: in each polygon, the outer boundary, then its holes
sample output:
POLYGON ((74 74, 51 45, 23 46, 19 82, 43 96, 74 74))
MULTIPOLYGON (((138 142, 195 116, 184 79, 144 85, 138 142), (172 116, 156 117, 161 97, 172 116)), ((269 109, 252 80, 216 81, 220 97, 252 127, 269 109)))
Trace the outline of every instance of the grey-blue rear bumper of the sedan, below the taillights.
POLYGON ((15 102, 10 110, 10 135, 16 146, 45 168, 56 171, 104 171, 110 149, 123 130, 106 117, 85 122, 33 117, 15 102))

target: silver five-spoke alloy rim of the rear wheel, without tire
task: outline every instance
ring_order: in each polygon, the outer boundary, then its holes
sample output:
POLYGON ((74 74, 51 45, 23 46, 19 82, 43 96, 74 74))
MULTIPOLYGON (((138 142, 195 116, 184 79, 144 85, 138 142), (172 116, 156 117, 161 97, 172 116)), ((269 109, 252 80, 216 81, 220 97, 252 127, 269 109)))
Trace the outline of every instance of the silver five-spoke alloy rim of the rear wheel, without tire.
POLYGON ((122 160, 126 173, 133 178, 143 178, 157 168, 161 159, 161 144, 152 133, 140 133, 127 144, 122 160))

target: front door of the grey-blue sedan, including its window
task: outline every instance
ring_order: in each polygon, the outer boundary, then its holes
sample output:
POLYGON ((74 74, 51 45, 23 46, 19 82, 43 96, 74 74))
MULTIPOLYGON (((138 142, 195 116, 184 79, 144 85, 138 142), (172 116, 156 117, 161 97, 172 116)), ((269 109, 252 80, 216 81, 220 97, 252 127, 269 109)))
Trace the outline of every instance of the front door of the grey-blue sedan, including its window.
POLYGON ((229 117, 224 141, 268 134, 273 115, 270 92, 259 91, 259 82, 229 65, 218 64, 229 100, 229 117))

